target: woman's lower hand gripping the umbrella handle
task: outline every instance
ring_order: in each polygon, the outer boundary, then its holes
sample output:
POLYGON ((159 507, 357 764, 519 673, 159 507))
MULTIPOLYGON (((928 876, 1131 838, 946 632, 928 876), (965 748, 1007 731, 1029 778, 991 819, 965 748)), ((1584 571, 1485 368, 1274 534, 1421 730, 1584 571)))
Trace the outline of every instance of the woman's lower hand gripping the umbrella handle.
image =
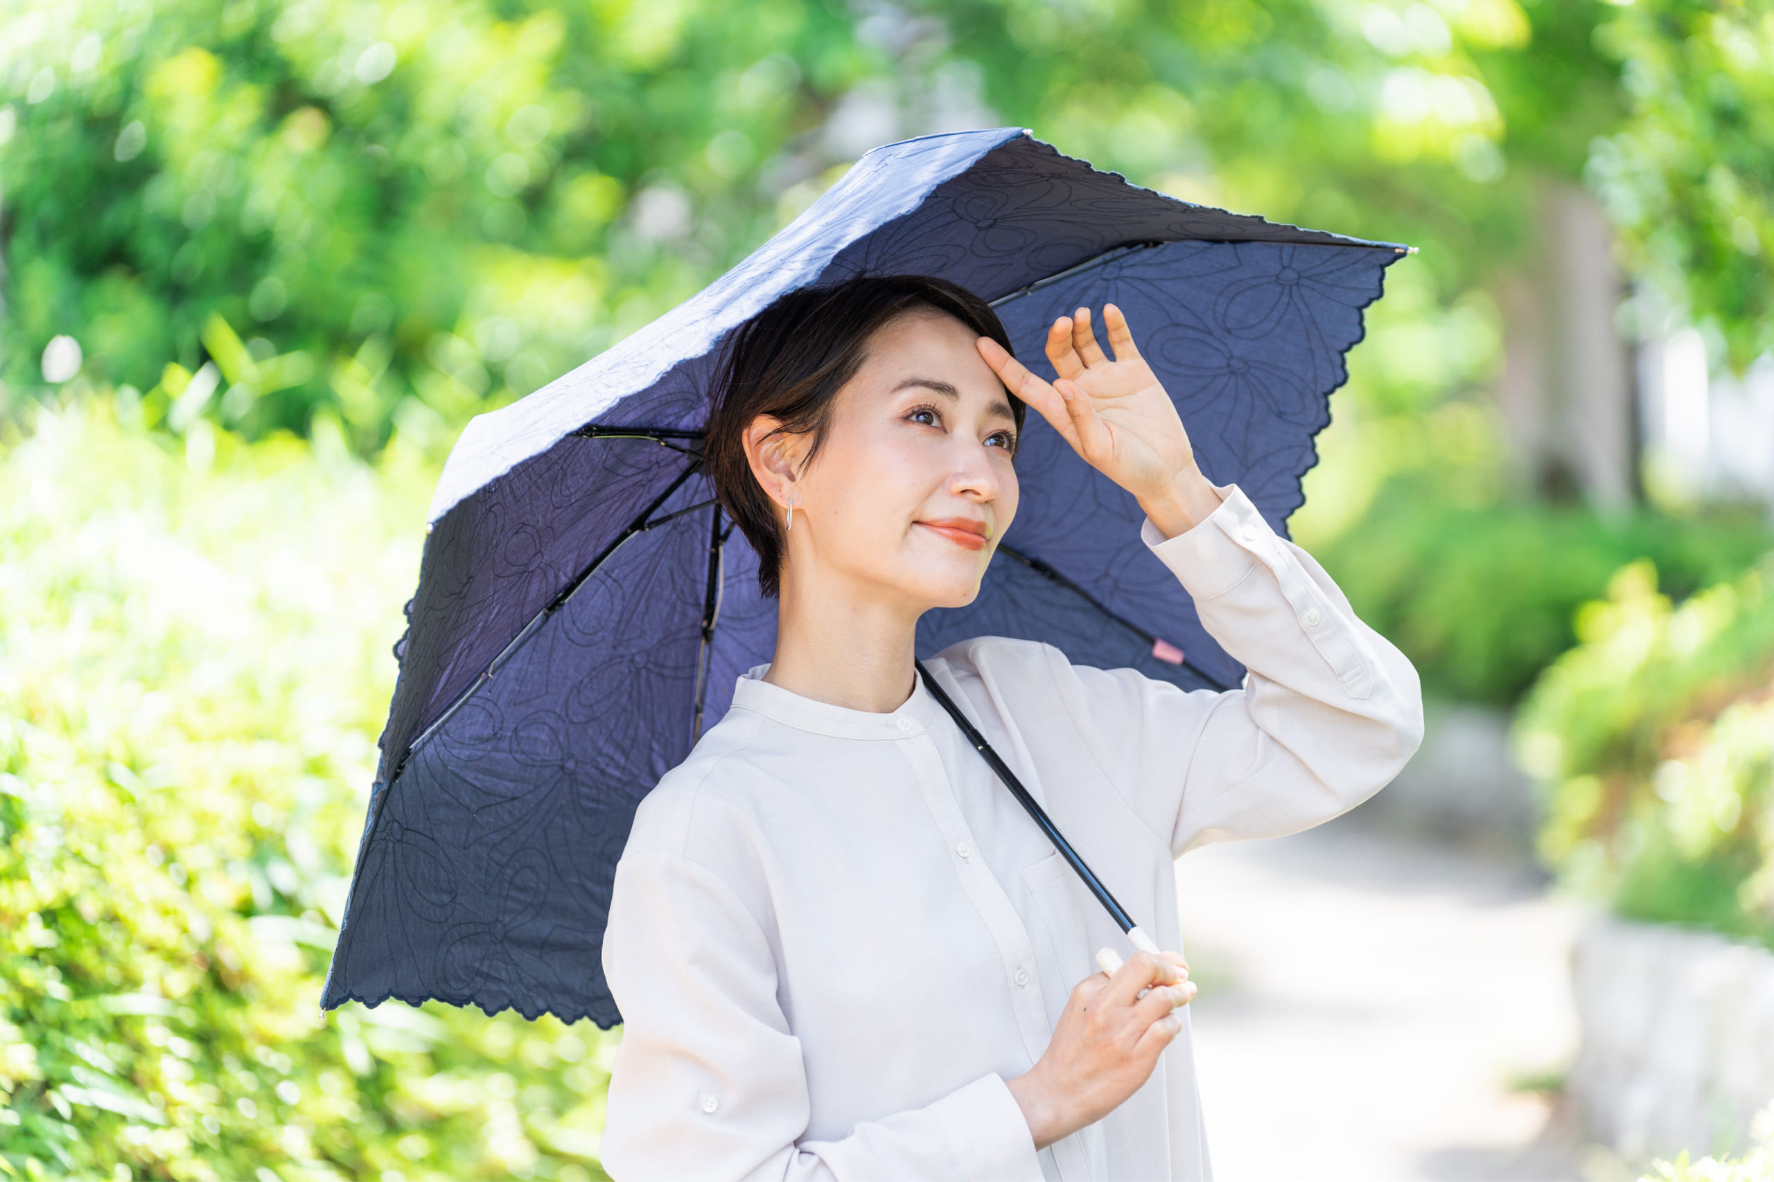
POLYGON ((1114 976, 1093 973, 1080 980, 1047 1053, 1008 1083, 1034 1147, 1047 1148, 1102 1120, 1134 1095, 1183 1028, 1173 1010, 1194 996, 1189 966, 1174 952, 1141 952, 1114 976))

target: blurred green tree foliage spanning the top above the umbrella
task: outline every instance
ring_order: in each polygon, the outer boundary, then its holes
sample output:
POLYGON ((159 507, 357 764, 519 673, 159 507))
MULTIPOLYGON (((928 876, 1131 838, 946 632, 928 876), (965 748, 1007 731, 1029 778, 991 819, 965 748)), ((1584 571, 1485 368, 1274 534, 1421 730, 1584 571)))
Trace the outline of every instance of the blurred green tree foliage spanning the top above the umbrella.
POLYGON ((442 445, 862 149, 988 122, 1190 200, 1423 243, 1458 305, 1526 243, 1535 177, 1616 128, 1590 39, 1609 11, 0 0, 0 402, 43 390, 69 333, 87 381, 147 390, 174 431, 318 415, 364 452, 396 424, 442 445))

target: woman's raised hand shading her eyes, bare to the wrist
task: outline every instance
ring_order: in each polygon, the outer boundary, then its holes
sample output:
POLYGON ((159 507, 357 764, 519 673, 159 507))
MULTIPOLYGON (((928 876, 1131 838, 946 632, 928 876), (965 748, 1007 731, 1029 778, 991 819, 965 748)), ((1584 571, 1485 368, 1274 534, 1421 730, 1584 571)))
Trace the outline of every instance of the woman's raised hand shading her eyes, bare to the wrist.
POLYGON ((1079 308, 1047 330, 1048 385, 1004 346, 979 338, 979 354, 1004 388, 1032 406, 1087 464, 1132 493, 1153 525, 1174 537, 1219 507, 1196 466, 1194 447, 1171 395, 1134 344, 1121 308, 1103 305, 1111 360, 1096 344, 1091 310, 1079 308))

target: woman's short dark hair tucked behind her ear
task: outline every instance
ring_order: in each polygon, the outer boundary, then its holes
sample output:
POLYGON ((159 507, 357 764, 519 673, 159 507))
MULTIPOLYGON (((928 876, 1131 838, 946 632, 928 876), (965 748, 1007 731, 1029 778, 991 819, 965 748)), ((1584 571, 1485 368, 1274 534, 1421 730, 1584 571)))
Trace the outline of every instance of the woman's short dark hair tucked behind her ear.
MULTIPOLYGON (((745 429, 759 415, 782 420, 779 431, 812 434, 807 461, 820 450, 832 399, 862 367, 869 337, 889 321, 930 308, 953 315, 1009 351, 1009 335, 985 299, 930 275, 864 275, 830 287, 802 287, 777 298, 727 340, 713 388, 704 439, 704 468, 722 509, 757 551, 757 587, 781 588, 784 537, 770 496, 745 459, 745 429)), ((1011 395, 1022 429, 1027 408, 1011 395)))

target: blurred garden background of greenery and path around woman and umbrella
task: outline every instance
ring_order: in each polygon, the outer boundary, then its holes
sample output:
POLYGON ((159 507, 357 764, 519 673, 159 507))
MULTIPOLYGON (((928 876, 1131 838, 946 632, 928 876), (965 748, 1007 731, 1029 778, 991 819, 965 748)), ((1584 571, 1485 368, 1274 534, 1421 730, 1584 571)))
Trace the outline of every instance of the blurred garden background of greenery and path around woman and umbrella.
POLYGON ((603 1177, 617 1033, 318 1008, 442 457, 1002 124, 1421 248, 1290 528, 1428 739, 1180 867, 1221 1177, 1774 1177, 1769 0, 0 0, 0 1173, 603 1177))

